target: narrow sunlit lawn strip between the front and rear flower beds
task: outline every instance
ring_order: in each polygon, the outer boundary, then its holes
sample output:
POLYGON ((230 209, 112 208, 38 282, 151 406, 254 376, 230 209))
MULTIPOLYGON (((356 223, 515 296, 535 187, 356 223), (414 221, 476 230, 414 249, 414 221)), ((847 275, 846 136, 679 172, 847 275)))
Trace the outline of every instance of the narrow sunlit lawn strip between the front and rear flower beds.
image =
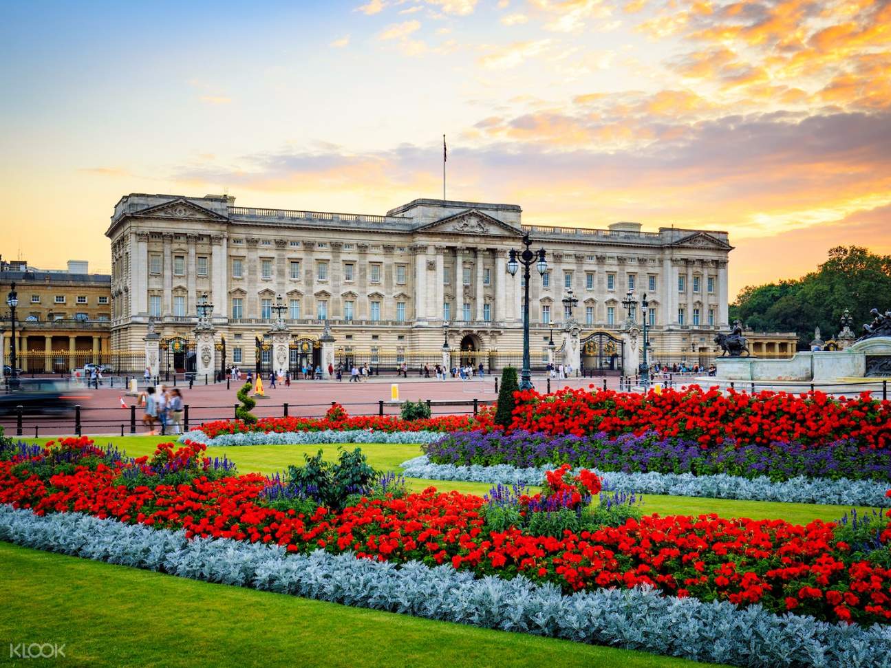
MULTIPOLYGON (((25 439, 34 441, 35 439, 25 439)), ((45 443, 50 439, 39 438, 37 442, 45 443)), ((171 440, 162 436, 109 436, 97 437, 96 444, 115 444, 131 457, 151 454, 155 445, 171 440)), ((232 447, 208 448, 208 455, 228 457, 238 466, 241 473, 258 471, 274 473, 288 467, 289 464, 303 462, 305 452, 314 454, 323 450, 326 458, 337 457, 337 444, 327 445, 243 445, 232 447)), ((343 447, 355 448, 356 444, 343 447)), ((360 444, 374 468, 381 470, 398 470, 399 464, 421 454, 419 445, 401 444, 360 444)), ((441 490, 457 490, 462 493, 485 494, 491 485, 487 483, 460 483, 445 480, 421 480, 409 478, 408 483, 413 490, 421 490, 434 486, 441 490)), ((666 496, 662 494, 644 495, 644 511, 660 515, 699 515, 701 513, 717 513, 722 517, 751 517, 753 519, 785 519, 795 524, 807 524, 813 519, 834 520, 841 517, 848 508, 846 506, 824 506, 809 503, 778 503, 772 501, 734 501, 730 499, 708 499, 690 496, 666 496)))

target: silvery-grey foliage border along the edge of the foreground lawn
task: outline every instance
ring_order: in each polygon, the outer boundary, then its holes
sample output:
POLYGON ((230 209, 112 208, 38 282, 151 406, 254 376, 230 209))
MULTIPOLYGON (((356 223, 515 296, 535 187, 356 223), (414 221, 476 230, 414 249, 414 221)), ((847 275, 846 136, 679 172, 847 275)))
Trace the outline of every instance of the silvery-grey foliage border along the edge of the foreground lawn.
POLYGON ((0 540, 195 580, 719 664, 866 666, 891 656, 891 626, 832 624, 759 607, 740 612, 730 603, 646 587, 561 595, 523 576, 478 579, 450 565, 397 567, 349 552, 304 556, 279 545, 188 540, 182 530, 81 513, 37 517, 0 505, 0 540))

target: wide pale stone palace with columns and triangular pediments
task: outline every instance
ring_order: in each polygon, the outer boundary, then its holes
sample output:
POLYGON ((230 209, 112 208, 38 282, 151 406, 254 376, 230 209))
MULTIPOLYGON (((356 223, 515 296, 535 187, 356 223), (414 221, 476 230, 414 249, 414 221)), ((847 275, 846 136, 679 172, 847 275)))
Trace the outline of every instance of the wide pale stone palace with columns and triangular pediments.
MULTIPOLYGON (((727 327, 726 232, 526 225, 521 213, 516 204, 421 199, 372 216, 129 194, 106 232, 111 346, 134 350, 158 336, 169 353, 162 366, 184 369, 203 309, 221 368, 260 362, 282 321, 292 365, 318 349, 326 325, 340 363, 432 366, 447 341, 468 362, 516 365, 524 286, 507 261, 528 234, 548 262, 529 285, 534 366, 570 318, 583 346, 618 336, 629 292, 650 303, 650 359, 711 359, 712 339, 727 327)), ((584 353, 583 368, 616 368, 615 350, 584 353)))

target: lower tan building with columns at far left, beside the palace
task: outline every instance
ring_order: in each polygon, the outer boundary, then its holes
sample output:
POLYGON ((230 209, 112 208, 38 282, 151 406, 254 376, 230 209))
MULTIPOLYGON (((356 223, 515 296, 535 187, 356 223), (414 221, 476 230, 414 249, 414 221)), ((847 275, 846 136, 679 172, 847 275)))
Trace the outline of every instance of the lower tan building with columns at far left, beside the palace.
POLYGON ((4 363, 10 359, 6 296, 15 282, 17 363, 31 373, 68 372, 104 361, 110 352, 111 277, 89 273, 86 262, 70 261, 68 271, 45 271, 27 262, 0 261, 3 297, 4 363))

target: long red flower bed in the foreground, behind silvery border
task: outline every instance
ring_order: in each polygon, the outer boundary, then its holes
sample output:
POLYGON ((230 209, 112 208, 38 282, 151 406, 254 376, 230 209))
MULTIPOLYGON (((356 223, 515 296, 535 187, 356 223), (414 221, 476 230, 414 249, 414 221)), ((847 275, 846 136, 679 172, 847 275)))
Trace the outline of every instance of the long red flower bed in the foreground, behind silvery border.
MULTIPOLYGON (((86 439, 62 445, 85 454, 86 439)), ((194 457, 164 450, 171 460, 194 457)), ((196 449, 197 448, 197 449, 196 449)), ((98 451, 102 452, 102 451, 98 451)), ((110 460, 110 459, 109 459, 110 460)), ((699 517, 643 517, 619 527, 561 537, 503 532, 486 527, 478 496, 437 493, 428 488, 405 498, 363 498, 339 513, 318 508, 311 514, 272 508, 262 496, 259 475, 187 484, 138 485, 115 480, 138 464, 112 461, 85 464, 77 458, 42 479, 35 468, 54 461, 52 452, 0 460, 0 502, 47 512, 81 511, 121 522, 184 527, 191 536, 276 543, 288 551, 354 550, 360 558, 451 564, 476 574, 524 574, 555 582, 566 591, 650 584, 666 594, 738 605, 761 603, 774 612, 795 609, 830 621, 888 623, 891 569, 852 557, 852 548, 834 535, 834 524, 806 526, 781 520, 699 517)), ((555 472, 554 485, 566 480, 555 472)), ((589 492, 595 480, 578 480, 589 492)), ((891 525, 879 540, 887 548, 891 525)))

